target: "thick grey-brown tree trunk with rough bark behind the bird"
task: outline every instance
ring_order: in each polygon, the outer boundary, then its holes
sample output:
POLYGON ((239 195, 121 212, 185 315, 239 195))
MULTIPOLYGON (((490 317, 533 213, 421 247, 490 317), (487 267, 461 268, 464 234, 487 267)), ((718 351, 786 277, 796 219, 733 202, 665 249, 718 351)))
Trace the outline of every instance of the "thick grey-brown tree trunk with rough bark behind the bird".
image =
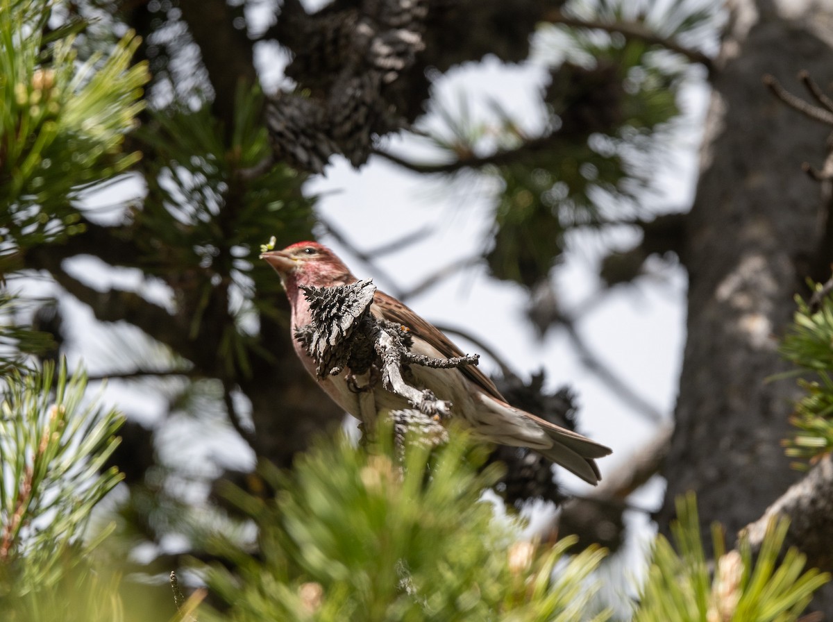
POLYGON ((826 130, 771 97, 761 77, 795 84, 806 69, 826 83, 833 51, 822 37, 833 7, 783 4, 790 10, 732 2, 712 74, 686 230, 688 339, 662 529, 675 497, 696 490, 706 532, 713 520, 736 532, 800 477, 780 445, 795 382, 767 378, 786 369, 777 337, 821 235, 819 187, 800 165, 823 159, 826 130))

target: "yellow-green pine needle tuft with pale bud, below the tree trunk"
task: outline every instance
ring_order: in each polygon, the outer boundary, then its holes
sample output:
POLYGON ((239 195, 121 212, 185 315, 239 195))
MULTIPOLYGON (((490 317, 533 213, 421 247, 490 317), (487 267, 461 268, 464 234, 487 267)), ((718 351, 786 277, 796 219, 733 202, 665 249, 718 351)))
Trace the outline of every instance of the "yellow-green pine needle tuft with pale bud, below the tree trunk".
POLYGON ((726 551, 719 526, 712 530, 716 571, 710 568, 699 533, 694 495, 677 500, 679 519, 671 527, 675 546, 658 535, 636 622, 790 622, 798 620, 813 592, 830 580, 804 570, 796 549, 779 559, 788 521, 772 522, 753 560, 748 543, 726 551))

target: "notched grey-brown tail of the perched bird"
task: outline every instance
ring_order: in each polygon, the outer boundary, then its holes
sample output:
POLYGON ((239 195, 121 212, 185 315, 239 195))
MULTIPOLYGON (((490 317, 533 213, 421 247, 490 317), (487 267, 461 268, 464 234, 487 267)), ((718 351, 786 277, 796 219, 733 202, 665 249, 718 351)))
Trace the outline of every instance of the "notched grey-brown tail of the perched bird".
POLYGON ((601 480, 596 458, 611 454, 611 449, 578 432, 567 430, 531 413, 520 411, 503 401, 480 394, 481 402, 495 415, 501 415, 506 422, 515 424, 516 434, 501 435, 499 442, 505 445, 530 447, 556 465, 563 466, 588 484, 596 485, 601 480))

